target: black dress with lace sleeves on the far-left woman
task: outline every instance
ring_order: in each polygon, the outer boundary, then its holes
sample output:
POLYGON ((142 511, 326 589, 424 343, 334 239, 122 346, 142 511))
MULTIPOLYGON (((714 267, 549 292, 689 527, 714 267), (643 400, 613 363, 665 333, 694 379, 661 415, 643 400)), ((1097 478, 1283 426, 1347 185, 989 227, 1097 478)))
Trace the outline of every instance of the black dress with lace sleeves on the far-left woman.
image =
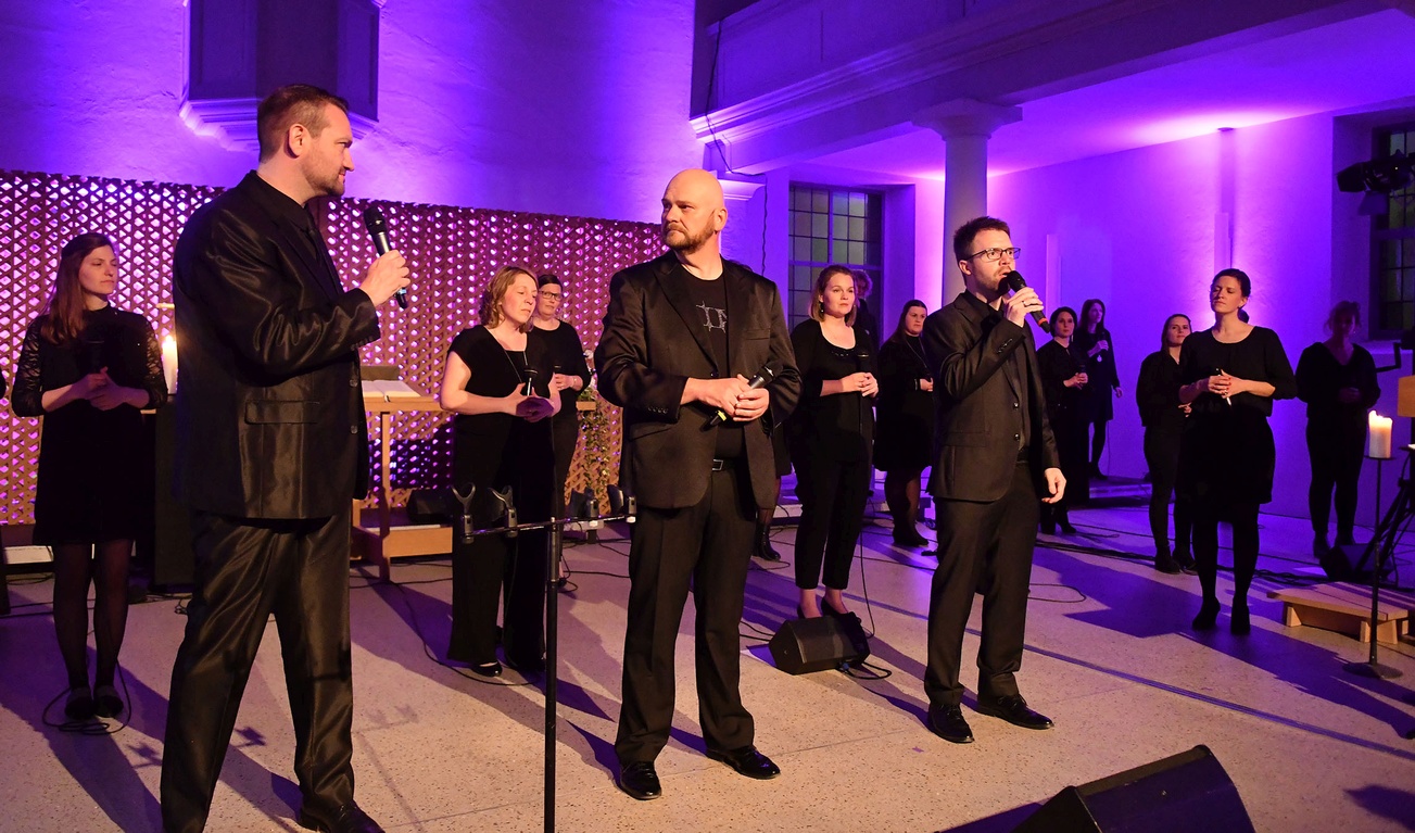
POLYGON ((147 392, 146 407, 167 402, 161 351, 147 318, 115 310, 83 311, 83 332, 55 345, 40 335, 41 315, 20 348, 10 404, 16 416, 42 416, 34 499, 34 543, 99 543, 137 537, 151 518, 153 461, 143 454, 143 417, 120 404, 99 410, 71 402, 44 413, 45 390, 72 385, 108 368, 122 388, 147 392))

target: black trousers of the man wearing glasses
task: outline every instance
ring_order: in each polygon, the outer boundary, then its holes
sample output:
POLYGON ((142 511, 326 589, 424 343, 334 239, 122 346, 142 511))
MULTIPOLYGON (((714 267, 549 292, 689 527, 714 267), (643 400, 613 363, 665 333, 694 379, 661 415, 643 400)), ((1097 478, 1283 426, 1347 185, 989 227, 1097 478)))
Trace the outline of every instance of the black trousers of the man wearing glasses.
POLYGON ((938 501, 938 569, 928 600, 928 668, 924 672, 930 706, 962 701, 958 669, 975 591, 982 593, 978 694, 1017 693, 1015 675, 1022 668, 1027 629, 1037 506, 1037 489, 1026 462, 1017 462, 1012 488, 998 501, 938 501))

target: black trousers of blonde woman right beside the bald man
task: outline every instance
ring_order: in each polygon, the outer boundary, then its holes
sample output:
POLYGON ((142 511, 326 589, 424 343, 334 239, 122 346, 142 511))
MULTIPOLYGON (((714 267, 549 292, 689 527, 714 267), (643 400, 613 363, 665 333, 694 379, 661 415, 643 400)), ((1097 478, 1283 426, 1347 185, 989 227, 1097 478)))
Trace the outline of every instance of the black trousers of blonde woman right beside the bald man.
POLYGON ((797 528, 795 578, 801 590, 815 590, 825 564, 825 586, 845 590, 850 584, 850 556, 865 523, 865 502, 870 492, 870 464, 833 460, 819 450, 798 450, 797 496, 801 523, 797 528), (802 453, 804 451, 804 453, 802 453))

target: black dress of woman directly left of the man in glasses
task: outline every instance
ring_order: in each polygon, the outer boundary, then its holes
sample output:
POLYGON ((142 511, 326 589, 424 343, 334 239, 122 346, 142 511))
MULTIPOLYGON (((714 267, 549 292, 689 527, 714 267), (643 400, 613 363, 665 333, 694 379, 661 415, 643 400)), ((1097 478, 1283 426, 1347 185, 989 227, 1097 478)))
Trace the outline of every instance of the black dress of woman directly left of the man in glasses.
POLYGON ((917 335, 886 341, 879 361, 880 395, 874 406, 874 468, 921 472, 932 465, 934 395, 920 389, 932 379, 917 335))

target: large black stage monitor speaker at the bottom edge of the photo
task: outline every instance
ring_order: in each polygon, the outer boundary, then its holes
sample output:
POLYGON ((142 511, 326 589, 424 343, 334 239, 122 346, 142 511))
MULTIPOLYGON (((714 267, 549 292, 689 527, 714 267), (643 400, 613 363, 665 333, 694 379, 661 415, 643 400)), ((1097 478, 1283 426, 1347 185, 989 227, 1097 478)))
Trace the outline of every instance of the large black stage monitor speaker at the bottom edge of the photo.
POLYGON ((1254 833, 1248 808, 1208 747, 1068 786, 1013 833, 1254 833))

